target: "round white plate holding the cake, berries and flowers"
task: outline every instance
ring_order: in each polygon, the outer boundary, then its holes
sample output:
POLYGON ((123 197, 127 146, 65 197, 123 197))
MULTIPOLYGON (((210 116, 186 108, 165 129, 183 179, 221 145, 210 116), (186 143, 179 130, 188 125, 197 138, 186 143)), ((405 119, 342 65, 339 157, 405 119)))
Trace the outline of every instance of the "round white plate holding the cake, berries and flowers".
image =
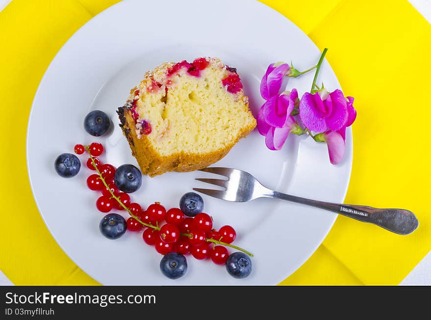
MULTIPOLYGON (((292 60, 305 70, 316 63, 319 50, 285 17, 257 1, 122 1, 97 15, 58 52, 34 98, 27 134, 27 163, 37 206, 52 236, 85 272, 106 285, 268 285, 277 284, 299 268, 325 238, 335 222, 333 213, 271 199, 232 203, 204 196, 205 212, 215 226, 237 230, 235 244, 253 252, 253 272, 234 279, 224 267, 190 257, 187 274, 169 280, 159 271, 161 259, 144 244, 140 233, 119 240, 98 230, 103 214, 96 210, 98 194, 86 187, 90 173, 64 179, 53 168, 56 156, 72 152, 76 143, 103 143, 104 162, 136 164, 116 126, 109 138, 86 134, 82 123, 92 109, 115 111, 143 77, 164 61, 217 56, 238 68, 254 114, 263 103, 259 83, 268 64, 292 60)), ((313 74, 290 79, 288 88, 309 90, 313 74)), ((320 81, 340 85, 327 62, 320 81)), ((269 188, 302 197, 342 202, 352 164, 352 132, 347 130, 346 155, 333 166, 324 144, 291 136, 280 151, 265 148, 255 130, 242 139, 217 166, 254 174, 269 188)), ((144 177, 132 195, 144 207, 158 200, 167 208, 192 187, 203 172, 166 173, 144 177)), ((124 212, 122 212, 124 216, 124 212)))

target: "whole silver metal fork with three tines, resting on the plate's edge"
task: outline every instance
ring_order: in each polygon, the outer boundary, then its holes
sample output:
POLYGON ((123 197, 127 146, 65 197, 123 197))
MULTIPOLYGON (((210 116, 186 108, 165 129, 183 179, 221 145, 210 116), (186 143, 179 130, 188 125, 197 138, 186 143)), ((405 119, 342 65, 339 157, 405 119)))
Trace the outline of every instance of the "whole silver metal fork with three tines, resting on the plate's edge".
POLYGON ((224 191, 193 188, 194 191, 211 197, 235 202, 246 202, 261 197, 282 199, 332 211, 362 222, 373 223, 401 235, 410 234, 419 226, 416 216, 405 209, 377 209, 362 205, 338 204, 287 195, 264 187, 253 175, 237 169, 213 167, 201 169, 200 171, 224 175, 228 178, 227 180, 196 179, 226 188, 224 191))

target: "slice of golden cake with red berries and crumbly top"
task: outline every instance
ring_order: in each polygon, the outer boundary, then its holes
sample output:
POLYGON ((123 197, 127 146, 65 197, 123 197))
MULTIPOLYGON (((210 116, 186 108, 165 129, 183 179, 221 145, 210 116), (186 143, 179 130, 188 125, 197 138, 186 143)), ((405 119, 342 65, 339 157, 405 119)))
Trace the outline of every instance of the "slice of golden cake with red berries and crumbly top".
POLYGON ((117 111, 144 174, 206 168, 256 126, 235 68, 218 58, 164 63, 117 111))

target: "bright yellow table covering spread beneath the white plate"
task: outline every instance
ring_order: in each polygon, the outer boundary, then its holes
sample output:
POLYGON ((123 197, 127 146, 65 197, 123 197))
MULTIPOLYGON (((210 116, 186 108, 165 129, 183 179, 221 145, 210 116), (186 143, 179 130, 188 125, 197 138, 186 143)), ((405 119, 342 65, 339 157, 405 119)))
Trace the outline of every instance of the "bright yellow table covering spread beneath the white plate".
MULTIPOLYGON (((0 12, 0 269, 15 284, 96 284, 55 243, 39 215, 25 136, 34 94, 54 55, 117 1, 13 0, 0 12)), ((412 235, 399 236, 339 217, 323 244, 282 284, 398 284, 431 249, 431 25, 407 0, 263 2, 320 49, 329 48, 326 57, 344 92, 356 98, 345 202, 408 208, 420 221, 412 235)))

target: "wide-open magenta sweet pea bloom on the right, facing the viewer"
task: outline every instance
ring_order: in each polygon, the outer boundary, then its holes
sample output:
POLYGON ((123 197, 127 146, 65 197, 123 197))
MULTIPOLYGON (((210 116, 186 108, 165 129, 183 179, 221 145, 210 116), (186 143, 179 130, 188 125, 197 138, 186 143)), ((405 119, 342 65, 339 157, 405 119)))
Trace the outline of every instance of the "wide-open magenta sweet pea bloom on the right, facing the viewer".
MULTIPOLYGON (((355 110, 353 108, 353 98, 351 109, 355 110)), ((313 95, 307 92, 302 96, 299 103, 299 116, 304 125, 311 131, 320 133, 328 129, 332 131, 339 130, 346 126, 349 120, 346 98, 344 98, 342 91, 338 89, 330 94, 325 89, 313 95)))

